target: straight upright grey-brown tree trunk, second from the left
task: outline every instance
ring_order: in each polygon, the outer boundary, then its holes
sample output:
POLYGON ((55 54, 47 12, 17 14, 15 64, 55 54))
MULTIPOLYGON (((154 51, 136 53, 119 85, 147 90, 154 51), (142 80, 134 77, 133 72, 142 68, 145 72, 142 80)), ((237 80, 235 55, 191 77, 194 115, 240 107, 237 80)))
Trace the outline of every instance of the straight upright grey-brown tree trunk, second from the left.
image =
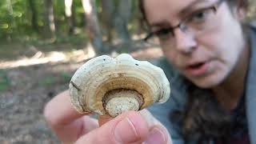
POLYGON ((44 38, 55 38, 53 0, 45 0, 44 5, 44 38))

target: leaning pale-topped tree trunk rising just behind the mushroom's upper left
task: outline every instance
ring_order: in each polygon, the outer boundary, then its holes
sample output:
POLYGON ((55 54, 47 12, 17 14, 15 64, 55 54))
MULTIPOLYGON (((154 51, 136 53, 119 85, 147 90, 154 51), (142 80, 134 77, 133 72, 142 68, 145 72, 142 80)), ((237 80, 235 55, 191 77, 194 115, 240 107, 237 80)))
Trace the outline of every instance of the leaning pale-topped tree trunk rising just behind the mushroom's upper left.
POLYGON ((86 14, 86 29, 90 37, 90 42, 94 46, 97 54, 105 52, 106 46, 102 42, 102 33, 98 24, 95 0, 82 0, 82 6, 86 14))

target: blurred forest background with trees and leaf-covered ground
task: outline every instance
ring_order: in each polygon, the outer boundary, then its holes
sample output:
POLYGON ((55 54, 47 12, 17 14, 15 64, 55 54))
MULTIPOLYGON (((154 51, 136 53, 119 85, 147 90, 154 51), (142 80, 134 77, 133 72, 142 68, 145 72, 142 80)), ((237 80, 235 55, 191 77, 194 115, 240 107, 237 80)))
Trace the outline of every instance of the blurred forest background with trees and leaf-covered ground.
POLYGON ((161 57, 143 27, 138 0, 1 0, 0 143, 59 143, 46 102, 97 55, 161 57))

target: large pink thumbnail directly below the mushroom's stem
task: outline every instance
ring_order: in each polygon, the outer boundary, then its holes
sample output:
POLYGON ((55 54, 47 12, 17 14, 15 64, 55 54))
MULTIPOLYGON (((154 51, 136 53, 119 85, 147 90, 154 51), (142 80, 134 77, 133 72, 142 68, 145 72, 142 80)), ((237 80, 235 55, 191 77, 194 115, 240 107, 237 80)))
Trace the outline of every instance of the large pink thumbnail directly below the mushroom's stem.
POLYGON ((114 136, 118 142, 134 142, 138 139, 138 133, 130 118, 124 118, 114 129, 114 136))

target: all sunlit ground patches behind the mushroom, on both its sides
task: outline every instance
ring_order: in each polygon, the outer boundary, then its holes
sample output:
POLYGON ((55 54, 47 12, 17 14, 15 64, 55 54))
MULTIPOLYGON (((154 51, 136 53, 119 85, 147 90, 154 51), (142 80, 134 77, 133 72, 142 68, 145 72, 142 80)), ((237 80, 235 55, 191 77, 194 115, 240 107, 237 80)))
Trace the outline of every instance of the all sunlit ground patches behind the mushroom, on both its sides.
MULTIPOLYGON (((138 36, 142 37, 142 36, 138 36)), ((57 63, 57 62, 84 62, 86 59, 94 58, 95 52, 94 48, 89 44, 89 46, 84 47, 82 50, 70 50, 70 51, 50 51, 42 52, 40 50, 33 50, 36 52, 31 55, 31 57, 22 57, 17 60, 1 60, 0 59, 0 69, 14 68, 18 66, 33 66, 46 63, 57 63)), ((118 53, 113 52, 110 54, 111 57, 116 57, 118 53)), ((140 60, 150 60, 154 58, 162 57, 162 50, 159 48, 149 47, 147 49, 138 50, 131 55, 134 58, 140 60)))

